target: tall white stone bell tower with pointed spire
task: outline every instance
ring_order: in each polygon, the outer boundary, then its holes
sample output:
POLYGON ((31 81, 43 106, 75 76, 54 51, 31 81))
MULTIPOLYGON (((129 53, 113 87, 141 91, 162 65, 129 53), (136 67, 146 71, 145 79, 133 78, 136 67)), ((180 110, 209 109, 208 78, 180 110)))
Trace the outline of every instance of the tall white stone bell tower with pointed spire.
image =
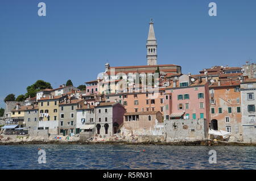
POLYGON ((153 19, 151 18, 150 20, 150 28, 148 31, 148 37, 147 37, 147 65, 157 65, 157 53, 156 53, 156 38, 155 38, 155 32, 154 32, 154 22, 153 19))

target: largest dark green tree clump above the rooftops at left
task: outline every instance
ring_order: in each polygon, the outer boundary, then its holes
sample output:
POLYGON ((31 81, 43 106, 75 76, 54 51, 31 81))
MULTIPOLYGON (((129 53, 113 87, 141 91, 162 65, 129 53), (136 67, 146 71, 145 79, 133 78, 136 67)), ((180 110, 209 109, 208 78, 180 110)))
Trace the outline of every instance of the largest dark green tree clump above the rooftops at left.
POLYGON ((49 82, 44 82, 42 80, 36 81, 34 84, 31 86, 27 87, 27 93, 25 95, 25 99, 28 98, 29 96, 31 98, 36 96, 36 92, 44 89, 52 89, 51 83, 49 82))

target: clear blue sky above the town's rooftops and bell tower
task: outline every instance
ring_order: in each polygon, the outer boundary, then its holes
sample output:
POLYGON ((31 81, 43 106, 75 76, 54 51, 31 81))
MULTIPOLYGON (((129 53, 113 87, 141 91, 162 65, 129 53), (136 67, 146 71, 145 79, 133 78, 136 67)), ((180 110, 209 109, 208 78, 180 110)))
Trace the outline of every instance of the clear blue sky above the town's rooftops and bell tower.
POLYGON ((110 66, 146 65, 154 18, 158 64, 197 74, 213 65, 256 60, 255 0, 109 0, 0 2, 0 107, 38 79, 58 87, 93 80, 110 66), (38 16, 38 3, 47 16, 38 16), (217 16, 208 4, 217 3, 217 16))

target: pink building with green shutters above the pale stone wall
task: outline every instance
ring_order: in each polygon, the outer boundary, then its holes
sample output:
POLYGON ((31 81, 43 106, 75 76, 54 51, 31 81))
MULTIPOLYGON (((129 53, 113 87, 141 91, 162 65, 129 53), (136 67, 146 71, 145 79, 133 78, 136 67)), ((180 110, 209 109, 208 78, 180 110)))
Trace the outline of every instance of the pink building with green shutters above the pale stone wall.
POLYGON ((188 75, 171 80, 164 94, 164 119, 207 119, 209 123, 209 83, 188 75))

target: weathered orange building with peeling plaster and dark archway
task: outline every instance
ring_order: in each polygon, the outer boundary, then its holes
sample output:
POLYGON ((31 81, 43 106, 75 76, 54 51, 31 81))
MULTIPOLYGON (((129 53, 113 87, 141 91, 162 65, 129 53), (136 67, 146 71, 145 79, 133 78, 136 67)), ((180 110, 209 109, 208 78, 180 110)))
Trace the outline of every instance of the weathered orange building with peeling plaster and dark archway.
POLYGON ((229 141, 242 141, 240 81, 214 82, 209 91, 210 127, 230 132, 229 141))

